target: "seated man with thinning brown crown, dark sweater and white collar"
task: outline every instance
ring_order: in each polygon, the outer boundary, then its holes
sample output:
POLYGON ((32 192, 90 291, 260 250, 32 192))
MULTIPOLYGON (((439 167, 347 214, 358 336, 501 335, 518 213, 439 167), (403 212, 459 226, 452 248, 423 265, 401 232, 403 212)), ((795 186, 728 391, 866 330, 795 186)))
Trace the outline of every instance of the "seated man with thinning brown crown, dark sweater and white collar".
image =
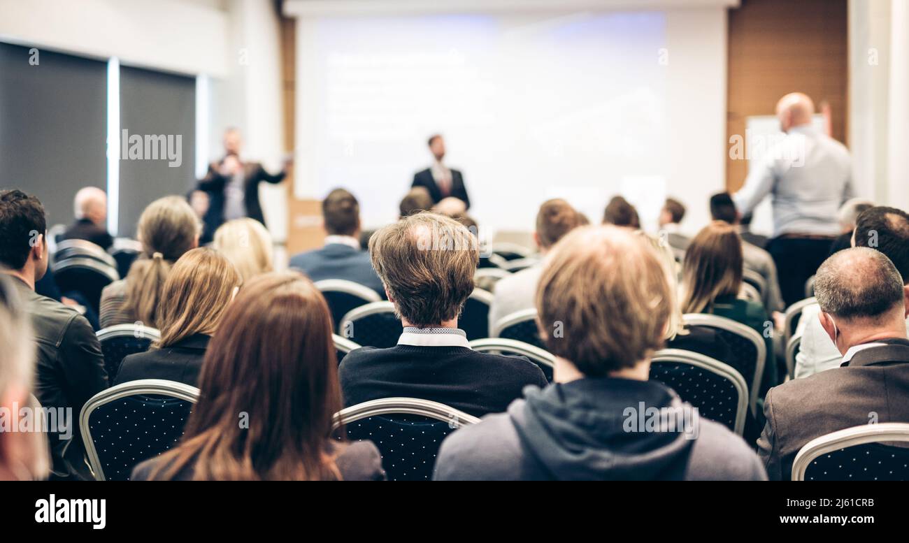
POLYGON ((345 356, 347 406, 404 396, 481 416, 503 411, 526 385, 546 384, 529 360, 475 352, 457 328, 479 258, 464 225, 417 213, 375 232, 369 252, 404 333, 390 349, 364 347, 345 356))

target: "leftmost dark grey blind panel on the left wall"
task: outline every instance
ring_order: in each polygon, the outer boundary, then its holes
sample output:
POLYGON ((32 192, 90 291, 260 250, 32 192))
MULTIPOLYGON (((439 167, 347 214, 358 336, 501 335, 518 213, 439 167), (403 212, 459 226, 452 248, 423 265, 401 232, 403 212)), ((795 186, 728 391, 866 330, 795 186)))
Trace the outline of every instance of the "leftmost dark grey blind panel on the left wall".
POLYGON ((105 188, 107 64, 0 44, 0 187, 35 194, 48 226, 73 221, 73 197, 105 188))

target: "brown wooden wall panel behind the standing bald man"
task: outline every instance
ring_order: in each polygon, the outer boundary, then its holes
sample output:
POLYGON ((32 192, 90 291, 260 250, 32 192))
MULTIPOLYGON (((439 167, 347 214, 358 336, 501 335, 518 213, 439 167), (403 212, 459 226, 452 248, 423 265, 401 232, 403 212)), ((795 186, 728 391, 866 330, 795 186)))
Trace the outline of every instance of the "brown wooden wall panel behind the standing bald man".
MULTIPOLYGON (((751 115, 774 114, 784 94, 801 91, 830 105, 832 135, 846 142, 846 0, 742 0, 729 10, 726 141, 744 136, 751 115)), ((727 144, 728 149, 728 144, 727 144)), ((726 188, 744 183, 747 162, 726 153, 726 188)))

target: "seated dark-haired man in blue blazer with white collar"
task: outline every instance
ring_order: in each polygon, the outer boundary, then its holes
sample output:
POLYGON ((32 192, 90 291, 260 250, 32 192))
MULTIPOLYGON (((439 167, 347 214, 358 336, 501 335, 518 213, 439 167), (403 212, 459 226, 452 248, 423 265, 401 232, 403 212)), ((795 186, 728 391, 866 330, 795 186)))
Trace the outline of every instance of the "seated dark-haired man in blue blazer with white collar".
POLYGON ((325 246, 301 252, 290 259, 290 267, 303 271, 313 281, 343 279, 354 281, 382 294, 369 253, 360 250, 360 204, 353 194, 335 189, 322 202, 325 246))

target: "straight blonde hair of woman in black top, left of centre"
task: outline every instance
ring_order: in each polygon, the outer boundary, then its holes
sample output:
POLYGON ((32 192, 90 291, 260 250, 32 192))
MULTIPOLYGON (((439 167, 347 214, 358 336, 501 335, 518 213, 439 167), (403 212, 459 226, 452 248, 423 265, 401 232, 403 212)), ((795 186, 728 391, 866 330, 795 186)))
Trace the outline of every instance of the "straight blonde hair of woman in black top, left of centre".
POLYGON ((194 334, 214 334, 240 281, 235 265, 214 249, 186 252, 165 281, 157 346, 169 347, 194 334))

